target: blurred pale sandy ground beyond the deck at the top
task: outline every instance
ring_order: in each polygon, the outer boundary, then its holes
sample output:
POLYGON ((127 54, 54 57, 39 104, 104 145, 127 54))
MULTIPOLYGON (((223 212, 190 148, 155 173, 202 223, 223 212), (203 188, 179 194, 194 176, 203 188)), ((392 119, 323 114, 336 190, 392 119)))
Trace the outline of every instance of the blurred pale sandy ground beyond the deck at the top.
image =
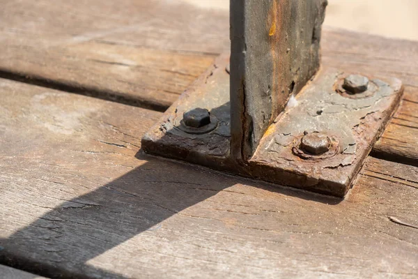
MULTIPOLYGON (((183 0, 229 9, 229 0, 183 0)), ((387 37, 418 40, 418 0, 328 0, 325 24, 387 37)))

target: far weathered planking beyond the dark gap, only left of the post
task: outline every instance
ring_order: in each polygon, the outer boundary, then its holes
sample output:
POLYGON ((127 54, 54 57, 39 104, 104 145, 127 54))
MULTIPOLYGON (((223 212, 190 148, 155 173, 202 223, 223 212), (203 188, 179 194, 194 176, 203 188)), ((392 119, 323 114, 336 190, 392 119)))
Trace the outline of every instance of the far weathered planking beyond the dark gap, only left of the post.
POLYGON ((3 77, 156 110, 229 49, 228 17, 181 1, 8 1, 0 17, 3 77))

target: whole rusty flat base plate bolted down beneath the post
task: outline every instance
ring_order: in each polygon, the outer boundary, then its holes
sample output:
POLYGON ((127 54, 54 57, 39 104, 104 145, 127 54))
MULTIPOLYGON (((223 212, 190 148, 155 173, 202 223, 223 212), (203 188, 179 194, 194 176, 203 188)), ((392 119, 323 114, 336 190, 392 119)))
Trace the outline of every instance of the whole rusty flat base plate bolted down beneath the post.
POLYGON ((229 56, 219 56, 148 131, 142 147, 146 153, 344 197, 403 93, 399 80, 368 76, 367 91, 352 95, 341 86, 348 74, 320 69, 244 162, 230 156, 229 56), (196 107, 210 111, 210 128, 184 127, 183 113, 196 107), (309 134, 325 137, 327 150, 319 155, 304 150, 302 138, 309 134))

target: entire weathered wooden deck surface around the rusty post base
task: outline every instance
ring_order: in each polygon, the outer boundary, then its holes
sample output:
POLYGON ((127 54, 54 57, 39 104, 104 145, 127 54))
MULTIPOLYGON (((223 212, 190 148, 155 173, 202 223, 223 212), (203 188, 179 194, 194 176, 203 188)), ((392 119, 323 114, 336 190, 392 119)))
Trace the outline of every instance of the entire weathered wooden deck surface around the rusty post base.
POLYGON ((0 264, 51 278, 417 278, 418 42, 324 30, 323 63, 405 84, 339 200, 141 152, 229 49, 226 11, 22 0, 0 18, 0 264))

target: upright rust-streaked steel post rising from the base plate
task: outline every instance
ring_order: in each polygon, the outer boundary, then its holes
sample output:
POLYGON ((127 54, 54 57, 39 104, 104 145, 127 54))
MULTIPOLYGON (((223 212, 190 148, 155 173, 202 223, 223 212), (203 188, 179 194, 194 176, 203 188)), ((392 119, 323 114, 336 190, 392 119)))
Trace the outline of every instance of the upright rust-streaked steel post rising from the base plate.
POLYGON ((315 75, 327 0, 231 0, 231 155, 247 161, 315 75))

